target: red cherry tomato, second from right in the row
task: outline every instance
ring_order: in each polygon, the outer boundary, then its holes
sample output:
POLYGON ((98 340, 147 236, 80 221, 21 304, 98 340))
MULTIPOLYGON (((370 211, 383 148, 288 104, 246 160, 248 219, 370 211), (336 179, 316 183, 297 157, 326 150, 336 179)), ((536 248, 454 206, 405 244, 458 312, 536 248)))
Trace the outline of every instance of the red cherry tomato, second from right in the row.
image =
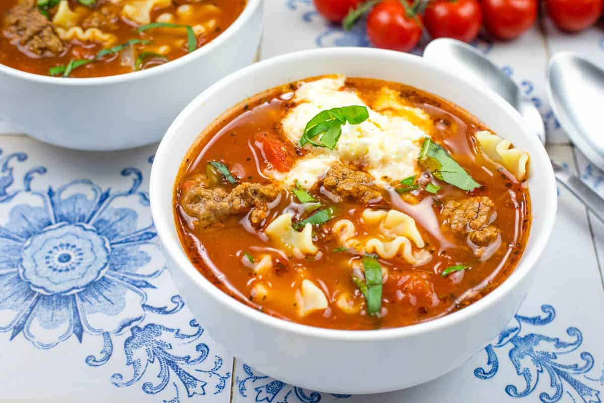
POLYGON ((537 0, 483 0, 484 26, 498 39, 514 39, 533 26, 537 0))

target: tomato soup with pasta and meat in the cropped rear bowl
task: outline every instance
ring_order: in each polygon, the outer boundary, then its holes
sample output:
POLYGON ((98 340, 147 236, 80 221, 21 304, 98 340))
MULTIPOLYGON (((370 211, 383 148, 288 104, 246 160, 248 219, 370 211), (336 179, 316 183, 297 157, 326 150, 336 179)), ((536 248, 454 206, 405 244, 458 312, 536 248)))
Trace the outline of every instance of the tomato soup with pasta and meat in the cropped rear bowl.
POLYGON ((0 63, 100 77, 184 56, 237 19, 245 0, 2 0, 0 63))

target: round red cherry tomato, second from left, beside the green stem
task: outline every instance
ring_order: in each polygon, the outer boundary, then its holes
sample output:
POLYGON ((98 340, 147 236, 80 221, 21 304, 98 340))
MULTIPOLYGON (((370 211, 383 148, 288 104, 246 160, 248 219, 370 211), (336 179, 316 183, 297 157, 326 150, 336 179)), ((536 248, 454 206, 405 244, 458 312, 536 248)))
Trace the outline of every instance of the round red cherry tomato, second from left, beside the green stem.
POLYGON ((400 0, 384 0, 367 16, 367 36, 371 44, 382 49, 407 52, 422 37, 420 16, 400 0))

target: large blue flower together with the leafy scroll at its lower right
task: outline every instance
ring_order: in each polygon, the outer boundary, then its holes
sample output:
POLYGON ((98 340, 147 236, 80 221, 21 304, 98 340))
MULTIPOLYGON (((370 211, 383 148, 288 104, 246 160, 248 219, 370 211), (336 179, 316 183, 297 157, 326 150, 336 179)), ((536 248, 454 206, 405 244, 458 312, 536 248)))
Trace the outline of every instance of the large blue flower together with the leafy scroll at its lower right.
POLYGON ((125 365, 133 375, 123 381, 115 373, 115 386, 137 384, 156 364, 159 381, 144 382, 145 393, 161 392, 170 380, 173 402, 184 398, 180 390, 187 398, 205 395, 208 387, 215 395, 222 393, 231 374, 222 371, 220 356, 208 359, 210 347, 199 342, 204 329, 196 321, 189 323, 191 334, 158 323, 143 325, 148 314, 176 314, 184 302, 179 295, 170 298, 170 306, 147 301, 147 291, 156 288, 153 282, 165 268, 163 260, 153 258, 159 247, 149 195, 139 190, 140 170, 121 171, 132 180, 122 192, 88 180, 33 189, 34 178, 46 173, 45 167, 25 173, 21 187, 14 189, 11 164, 26 160, 25 153, 0 160, 0 332, 10 332, 11 341, 22 335, 39 349, 51 349, 70 337, 80 343, 85 335, 100 337, 98 355, 85 358, 90 367, 106 364, 114 352, 113 338, 129 334, 125 365))

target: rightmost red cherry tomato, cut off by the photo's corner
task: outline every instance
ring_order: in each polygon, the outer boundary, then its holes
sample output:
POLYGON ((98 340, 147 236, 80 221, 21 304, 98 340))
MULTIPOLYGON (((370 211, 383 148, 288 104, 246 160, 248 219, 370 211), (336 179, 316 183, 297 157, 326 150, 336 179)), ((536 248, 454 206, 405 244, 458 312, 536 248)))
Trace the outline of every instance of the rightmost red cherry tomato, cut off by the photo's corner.
POLYGON ((561 30, 581 31, 596 24, 602 0, 547 0, 547 13, 561 30))

